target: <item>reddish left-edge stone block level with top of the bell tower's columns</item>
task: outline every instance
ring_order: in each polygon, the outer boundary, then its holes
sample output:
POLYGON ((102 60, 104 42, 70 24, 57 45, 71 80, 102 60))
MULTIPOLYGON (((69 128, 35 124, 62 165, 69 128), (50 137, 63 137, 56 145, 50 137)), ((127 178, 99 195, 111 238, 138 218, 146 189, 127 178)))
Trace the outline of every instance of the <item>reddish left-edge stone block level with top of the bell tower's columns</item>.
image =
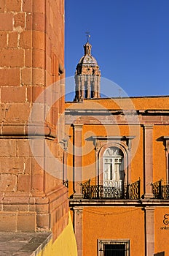
POLYGON ((0 86, 19 86, 20 69, 0 69, 0 86))

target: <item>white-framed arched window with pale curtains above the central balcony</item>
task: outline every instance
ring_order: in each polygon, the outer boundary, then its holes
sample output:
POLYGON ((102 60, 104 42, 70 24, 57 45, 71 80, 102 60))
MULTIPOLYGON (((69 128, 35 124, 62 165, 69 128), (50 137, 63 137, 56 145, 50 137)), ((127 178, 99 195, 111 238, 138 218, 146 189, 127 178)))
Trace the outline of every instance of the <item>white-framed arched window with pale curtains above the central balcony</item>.
POLYGON ((121 189, 124 184, 124 156, 117 147, 109 147, 103 153, 103 186, 121 189))

